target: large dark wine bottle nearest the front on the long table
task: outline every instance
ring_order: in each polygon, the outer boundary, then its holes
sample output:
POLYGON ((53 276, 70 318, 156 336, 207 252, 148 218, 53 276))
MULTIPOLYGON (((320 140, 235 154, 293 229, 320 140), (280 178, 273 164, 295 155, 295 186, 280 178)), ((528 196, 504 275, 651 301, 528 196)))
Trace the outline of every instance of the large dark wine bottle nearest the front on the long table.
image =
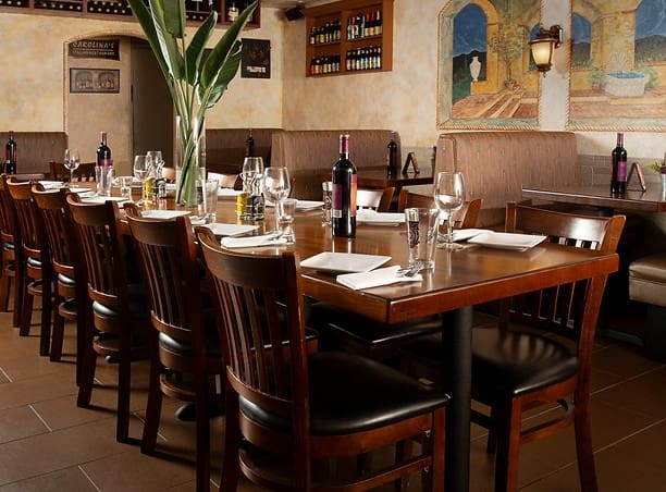
POLYGON ((349 160, 349 135, 340 136, 340 159, 333 165, 333 205, 331 209, 334 236, 356 236, 356 167, 349 160))

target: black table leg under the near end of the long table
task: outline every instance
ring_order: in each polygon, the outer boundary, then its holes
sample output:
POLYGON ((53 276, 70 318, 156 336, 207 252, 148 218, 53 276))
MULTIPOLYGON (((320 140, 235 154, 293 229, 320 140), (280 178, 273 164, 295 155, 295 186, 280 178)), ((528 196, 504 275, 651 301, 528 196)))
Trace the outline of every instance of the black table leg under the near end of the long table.
POLYGON ((445 490, 469 490, 469 428, 471 408, 471 330, 472 307, 443 315, 444 331, 449 333, 453 360, 451 404, 446 410, 445 490))

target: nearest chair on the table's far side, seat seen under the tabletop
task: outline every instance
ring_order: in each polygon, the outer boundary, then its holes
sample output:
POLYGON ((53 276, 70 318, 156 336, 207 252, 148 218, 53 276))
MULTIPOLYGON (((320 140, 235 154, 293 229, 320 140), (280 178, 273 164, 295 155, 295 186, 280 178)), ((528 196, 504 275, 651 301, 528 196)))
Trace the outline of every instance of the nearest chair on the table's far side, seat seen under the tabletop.
MULTIPOLYGON (((409 193, 407 189, 400 192, 399 198, 399 211, 404 211, 405 207, 434 206, 433 198, 409 193)), ((477 198, 466 202, 456 212, 455 226, 473 227, 482 201, 477 198)), ((387 362, 397 361, 396 356, 403 344, 419 336, 440 333, 442 330, 442 319, 439 315, 386 324, 341 310, 326 303, 312 304, 310 311, 312 325, 320 330, 324 346, 350 350, 387 362)))

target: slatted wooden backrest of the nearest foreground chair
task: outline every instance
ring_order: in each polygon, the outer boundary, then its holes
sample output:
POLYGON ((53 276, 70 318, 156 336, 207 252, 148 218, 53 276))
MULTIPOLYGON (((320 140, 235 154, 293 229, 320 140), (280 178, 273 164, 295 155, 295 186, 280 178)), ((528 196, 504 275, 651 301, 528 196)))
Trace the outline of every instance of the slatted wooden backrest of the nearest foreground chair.
POLYGON ((296 254, 240 255, 224 250, 210 236, 198 237, 234 389, 276 415, 305 415, 296 398, 307 392, 296 254))

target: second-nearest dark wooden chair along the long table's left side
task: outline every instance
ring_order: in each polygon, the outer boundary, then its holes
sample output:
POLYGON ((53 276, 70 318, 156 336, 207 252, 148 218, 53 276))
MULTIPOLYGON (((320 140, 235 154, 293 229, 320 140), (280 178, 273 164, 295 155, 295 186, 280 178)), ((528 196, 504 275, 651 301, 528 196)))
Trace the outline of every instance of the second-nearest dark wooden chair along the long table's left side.
POLYGON ((210 408, 224 365, 210 295, 187 217, 140 219, 125 209, 144 276, 153 333, 141 453, 155 451, 162 394, 196 404, 197 491, 210 489, 210 408))

